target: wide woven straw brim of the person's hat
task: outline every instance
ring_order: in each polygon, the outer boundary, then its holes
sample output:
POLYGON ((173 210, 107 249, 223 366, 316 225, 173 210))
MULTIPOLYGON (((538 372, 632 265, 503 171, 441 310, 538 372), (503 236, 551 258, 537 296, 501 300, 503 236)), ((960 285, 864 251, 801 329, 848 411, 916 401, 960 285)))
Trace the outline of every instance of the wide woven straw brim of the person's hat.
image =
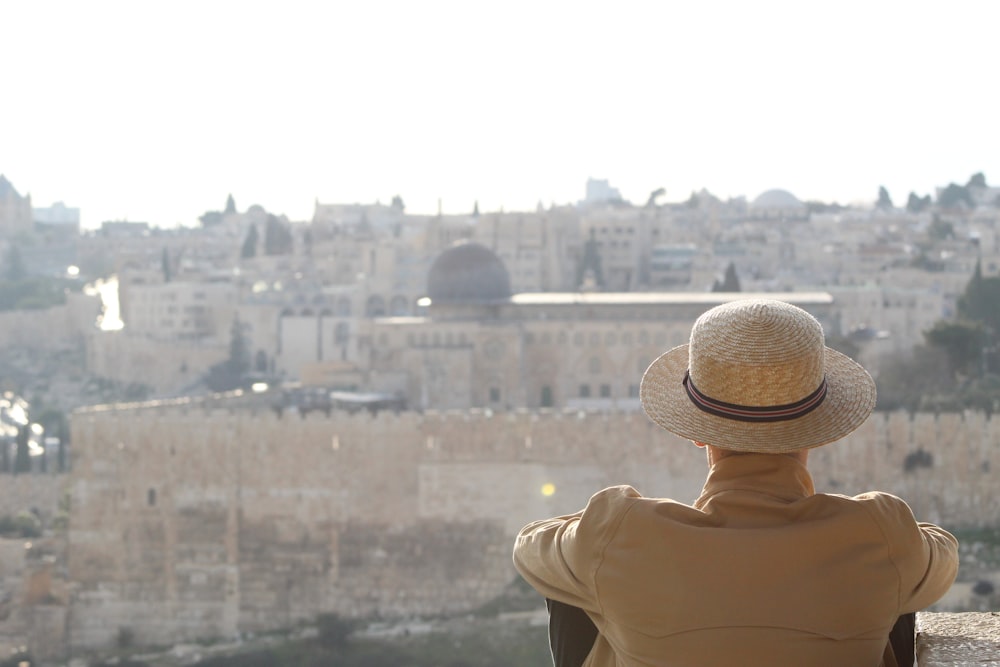
POLYGON ((827 394, 813 411, 795 419, 745 422, 702 411, 688 398, 684 374, 688 346, 660 355, 642 376, 639 397, 655 423, 696 442, 743 452, 782 453, 819 447, 846 436, 875 409, 875 382, 860 364, 825 348, 827 394))

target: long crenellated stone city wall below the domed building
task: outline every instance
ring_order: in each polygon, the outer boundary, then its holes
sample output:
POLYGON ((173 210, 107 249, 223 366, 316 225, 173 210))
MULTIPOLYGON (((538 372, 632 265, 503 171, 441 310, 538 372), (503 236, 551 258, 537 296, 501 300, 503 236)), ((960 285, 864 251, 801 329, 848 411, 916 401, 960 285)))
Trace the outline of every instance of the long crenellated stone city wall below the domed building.
MULTIPOLYGON (((693 500, 704 452, 641 412, 281 417, 183 403, 72 419, 74 647, 169 644, 322 612, 474 609, 528 521, 631 484, 693 500)), ((814 450, 818 491, 872 488, 951 528, 997 525, 1000 420, 876 414, 814 450)))

